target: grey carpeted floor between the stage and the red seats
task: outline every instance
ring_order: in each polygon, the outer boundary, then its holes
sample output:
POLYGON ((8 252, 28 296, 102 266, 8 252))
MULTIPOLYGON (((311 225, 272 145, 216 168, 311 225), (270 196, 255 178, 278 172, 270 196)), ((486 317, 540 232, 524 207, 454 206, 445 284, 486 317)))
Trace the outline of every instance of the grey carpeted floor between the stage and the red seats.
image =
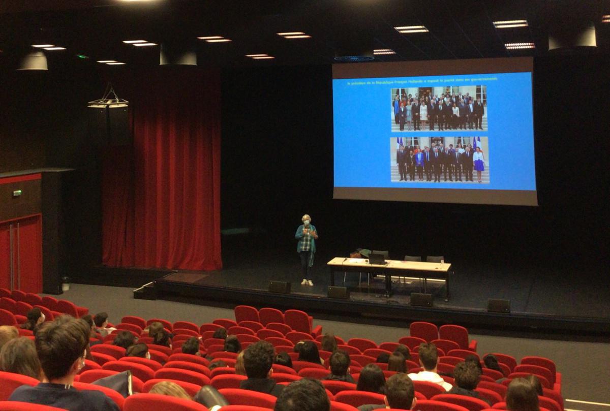
MULTIPOLYGON (((57 297, 57 296, 55 296, 57 297)), ((143 318, 165 318, 169 321, 192 321, 209 323, 215 318, 234 319, 233 310, 218 307, 197 306, 171 301, 148 301, 134 299, 131 288, 104 287, 98 285, 72 284, 70 291, 60 298, 73 301, 78 306, 88 307, 90 313, 105 311, 110 322, 118 323, 124 315, 143 318)), ((376 343, 397 341, 409 334, 406 328, 346 321, 316 320, 323 331, 330 331, 344 339, 370 338, 376 343)), ((562 394, 565 399, 605 403, 585 404, 565 402, 567 410, 610 411, 610 343, 557 341, 549 339, 498 337, 471 335, 478 341, 479 355, 487 352, 503 352, 520 360, 523 356, 543 356, 554 360, 563 374, 562 394)))

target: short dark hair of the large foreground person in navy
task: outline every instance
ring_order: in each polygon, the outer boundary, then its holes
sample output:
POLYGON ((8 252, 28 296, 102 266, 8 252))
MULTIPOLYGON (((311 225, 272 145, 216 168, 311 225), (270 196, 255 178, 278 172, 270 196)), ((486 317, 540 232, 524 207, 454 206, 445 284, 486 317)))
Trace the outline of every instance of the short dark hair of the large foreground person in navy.
POLYGON ((40 326, 35 345, 45 376, 52 381, 65 377, 77 359, 85 357, 91 328, 76 318, 59 318, 40 326))

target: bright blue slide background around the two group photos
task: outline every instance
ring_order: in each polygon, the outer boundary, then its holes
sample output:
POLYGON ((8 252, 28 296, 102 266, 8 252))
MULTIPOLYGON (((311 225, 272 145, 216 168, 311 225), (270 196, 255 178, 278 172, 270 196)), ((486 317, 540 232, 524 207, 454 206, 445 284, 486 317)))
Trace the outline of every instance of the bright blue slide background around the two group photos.
MULTIPOLYGON (((536 190, 531 73, 467 74, 332 80, 334 110, 334 186, 536 190), (477 80, 484 78, 486 80, 477 80), (494 79, 495 78, 495 79, 494 79), (464 81, 456 82, 458 79, 464 81), (473 79, 471 81, 471 79, 473 79), (404 80, 421 83, 375 84, 404 80), (426 80, 439 80, 428 83, 426 80), (354 85, 353 83, 364 85, 354 85), (370 82, 370 84, 366 84, 370 82), (391 88, 487 86, 487 130, 392 132, 391 88), (490 184, 418 183, 406 187, 390 181, 391 137, 489 137, 490 184)), ((423 147, 422 147, 423 149, 423 147)))

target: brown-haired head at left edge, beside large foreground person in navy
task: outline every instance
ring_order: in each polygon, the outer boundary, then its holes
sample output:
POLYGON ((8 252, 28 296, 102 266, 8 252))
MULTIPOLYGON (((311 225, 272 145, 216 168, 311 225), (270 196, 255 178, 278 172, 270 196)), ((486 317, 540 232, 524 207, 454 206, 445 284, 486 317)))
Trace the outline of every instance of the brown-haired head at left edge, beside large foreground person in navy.
POLYGON ((22 374, 42 381, 40 360, 34 341, 26 337, 14 338, 0 349, 0 370, 22 374))

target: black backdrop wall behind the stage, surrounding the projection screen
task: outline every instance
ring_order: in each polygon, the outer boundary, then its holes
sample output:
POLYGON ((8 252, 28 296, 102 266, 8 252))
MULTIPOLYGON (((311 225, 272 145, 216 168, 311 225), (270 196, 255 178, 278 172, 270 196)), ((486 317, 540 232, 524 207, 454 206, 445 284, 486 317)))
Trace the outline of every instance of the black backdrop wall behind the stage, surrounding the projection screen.
POLYGON ((262 228, 263 244, 293 252, 293 231, 307 212, 328 256, 364 247, 455 263, 597 259, 607 244, 600 224, 608 216, 607 172, 587 147, 607 146, 605 109, 591 104, 608 93, 600 70, 607 64, 599 56, 535 60, 539 207, 332 200, 331 67, 226 71, 223 227, 262 228))

